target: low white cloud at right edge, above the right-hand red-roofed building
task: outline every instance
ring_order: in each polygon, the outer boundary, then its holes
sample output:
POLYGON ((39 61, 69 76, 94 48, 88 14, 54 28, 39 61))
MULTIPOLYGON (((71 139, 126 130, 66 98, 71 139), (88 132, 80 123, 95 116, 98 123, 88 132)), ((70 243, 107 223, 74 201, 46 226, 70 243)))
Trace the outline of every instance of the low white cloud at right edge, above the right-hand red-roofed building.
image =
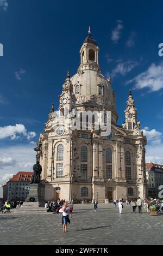
POLYGON ((158 132, 155 129, 149 130, 148 127, 143 129, 143 134, 147 137, 147 141, 152 144, 161 144, 162 133, 158 132))

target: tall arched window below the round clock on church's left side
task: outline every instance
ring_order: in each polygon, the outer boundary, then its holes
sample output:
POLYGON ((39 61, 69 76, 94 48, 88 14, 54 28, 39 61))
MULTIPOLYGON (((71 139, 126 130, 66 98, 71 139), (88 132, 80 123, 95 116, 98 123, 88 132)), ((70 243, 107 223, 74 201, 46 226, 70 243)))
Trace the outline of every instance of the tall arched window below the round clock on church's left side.
POLYGON ((64 163, 62 163, 63 160, 64 160, 64 146, 62 144, 59 144, 57 147, 57 166, 56 166, 57 178, 61 178, 63 175, 63 166, 64 166, 64 163))

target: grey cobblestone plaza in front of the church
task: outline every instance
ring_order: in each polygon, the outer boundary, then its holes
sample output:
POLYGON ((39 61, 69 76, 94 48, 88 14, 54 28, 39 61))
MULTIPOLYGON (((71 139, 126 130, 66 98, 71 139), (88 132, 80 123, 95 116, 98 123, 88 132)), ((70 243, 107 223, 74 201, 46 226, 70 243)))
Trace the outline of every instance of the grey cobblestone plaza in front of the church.
POLYGON ((61 214, 2 214, 0 245, 163 245, 163 215, 132 210, 124 204, 120 215, 112 204, 99 204, 97 212, 92 204, 74 205, 68 233, 61 214))

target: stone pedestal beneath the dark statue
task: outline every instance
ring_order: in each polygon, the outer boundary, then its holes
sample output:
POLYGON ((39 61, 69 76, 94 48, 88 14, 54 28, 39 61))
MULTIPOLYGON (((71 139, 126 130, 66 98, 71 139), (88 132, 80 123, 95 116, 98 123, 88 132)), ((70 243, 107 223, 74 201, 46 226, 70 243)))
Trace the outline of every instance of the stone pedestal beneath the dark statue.
POLYGON ((30 184, 30 190, 26 198, 26 203, 36 203, 38 206, 43 206, 45 204, 44 190, 45 187, 41 183, 30 184))

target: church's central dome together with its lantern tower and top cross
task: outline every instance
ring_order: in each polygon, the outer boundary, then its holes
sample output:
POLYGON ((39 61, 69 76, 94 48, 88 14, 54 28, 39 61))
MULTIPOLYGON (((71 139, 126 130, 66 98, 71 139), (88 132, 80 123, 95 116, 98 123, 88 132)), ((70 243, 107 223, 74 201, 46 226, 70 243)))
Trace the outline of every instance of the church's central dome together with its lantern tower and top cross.
POLYGON ((115 93, 111 88, 111 79, 105 79, 98 63, 99 47, 89 34, 80 49, 80 66, 71 81, 76 95, 78 110, 111 111, 111 122, 116 124, 117 112, 115 93))

